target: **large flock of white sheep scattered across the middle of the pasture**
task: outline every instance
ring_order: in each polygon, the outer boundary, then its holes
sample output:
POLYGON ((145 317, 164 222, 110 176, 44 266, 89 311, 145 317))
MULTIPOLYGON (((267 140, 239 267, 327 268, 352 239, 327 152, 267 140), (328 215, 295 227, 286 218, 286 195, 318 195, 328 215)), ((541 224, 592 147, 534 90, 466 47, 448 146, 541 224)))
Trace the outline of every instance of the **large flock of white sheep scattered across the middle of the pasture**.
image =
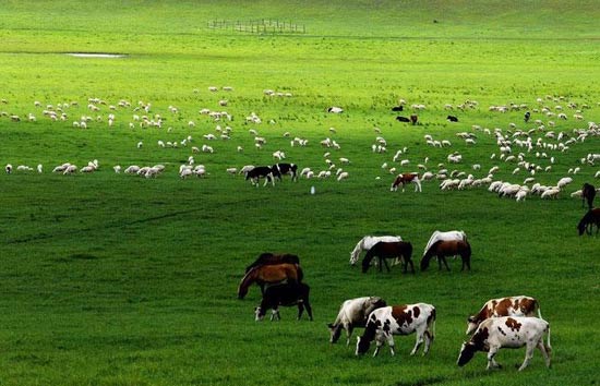
MULTIPOLYGON (((233 88, 230 86, 208 87, 211 93, 231 93, 233 88)), ((199 93, 199 91, 194 91, 199 93)), ((267 97, 292 97, 290 93, 276 93, 267 89, 263 94, 267 97)), ((2 99, 4 105, 9 105, 9 101, 2 99)), ((167 108, 169 119, 166 119, 160 113, 154 112, 154 107, 151 102, 139 101, 136 105, 131 104, 128 100, 121 99, 117 104, 108 104, 100 98, 87 99, 87 113, 76 113, 80 111, 80 104, 77 101, 62 102, 58 105, 43 105, 40 101, 34 101, 34 112, 19 116, 14 113, 8 113, 0 111, 0 119, 8 118, 14 123, 22 121, 37 122, 37 117, 44 117, 50 121, 64 121, 71 122, 73 128, 76 129, 92 129, 92 128, 113 128, 119 121, 123 120, 127 126, 131 130, 136 129, 164 129, 163 132, 166 135, 173 132, 173 126, 167 126, 167 121, 183 121, 187 122, 188 132, 179 141, 165 141, 158 140, 156 142, 157 148, 188 148, 191 155, 188 158, 188 162, 180 164, 178 167, 167 166, 166 162, 156 165, 129 165, 121 167, 115 165, 112 168, 115 172, 121 171, 127 174, 135 174, 145 178, 156 178, 164 173, 168 169, 178 170, 178 174, 181 179, 188 177, 206 177, 207 169, 204 165, 196 164, 199 157, 208 160, 211 154, 215 152, 215 146, 211 143, 215 141, 230 141, 233 137, 232 120, 233 114, 223 111, 221 108, 228 106, 226 98, 218 100, 218 110, 208 108, 202 108, 199 111, 200 116, 208 117, 208 120, 214 122, 214 132, 207 132, 201 134, 201 140, 192 135, 196 128, 196 120, 187 119, 181 117, 180 109, 175 106, 167 108), (73 111, 75 110, 75 111, 73 111), (123 118, 125 113, 130 113, 129 119, 123 118), (73 114, 77 117, 72 118, 73 114), (177 119, 173 119, 177 117, 177 119)), ((457 106, 446 104, 445 110, 460 111, 467 113, 469 109, 476 109, 479 104, 475 100, 467 100, 465 104, 457 106)), ((395 107, 395 111, 398 109, 411 109, 415 112, 427 109, 423 104, 412 104, 408 106, 406 100, 400 99, 398 107, 395 107)), ((573 182, 572 176, 565 176, 557 179, 552 183, 542 183, 539 180, 551 180, 544 178, 543 174, 553 171, 555 165, 560 164, 562 155, 571 152, 572 148, 588 141, 589 138, 597 137, 600 134, 600 129, 595 122, 581 122, 584 119, 584 111, 590 109, 589 105, 577 105, 564 100, 564 98, 547 96, 545 98, 538 98, 536 100, 536 107, 530 108, 525 104, 511 104, 506 106, 490 106, 489 111, 494 113, 506 113, 509 111, 527 111, 525 113, 525 122, 523 124, 509 123, 507 129, 488 129, 478 124, 473 124, 470 131, 457 132, 456 138, 451 141, 448 137, 441 137, 441 135, 447 134, 424 134, 424 141, 427 146, 431 146, 440 149, 447 149, 447 156, 444 162, 437 162, 431 165, 429 157, 422 157, 418 159, 412 154, 409 156, 409 149, 407 146, 403 146, 400 149, 394 153, 391 160, 383 162, 381 166, 382 171, 391 174, 396 174, 399 169, 405 171, 418 172, 421 181, 439 181, 439 188, 443 191, 451 190, 466 190, 477 186, 487 186, 490 192, 496 193, 499 196, 513 197, 516 201, 524 201, 526 197, 537 194, 542 198, 555 198, 564 189, 573 182), (565 102, 565 107, 560 105, 565 102), (554 106, 549 106, 554 105, 554 106), (578 123, 578 128, 572 130, 556 130, 555 120, 567 120, 569 116, 565 112, 572 110, 571 114, 575 122, 578 123), (533 114, 533 117, 532 117, 533 114), (536 118, 537 117, 537 118, 536 118), (531 119, 531 121, 530 121, 531 119), (545 121, 543 120, 545 119, 545 121), (527 128, 527 129, 526 129, 527 128), (488 137, 488 140, 485 140, 488 137), (471 162, 470 165, 465 161, 465 157, 456 147, 456 143, 461 143, 464 146, 472 147, 479 146, 481 143, 490 143, 493 141, 497 146, 497 149, 490 155, 490 160, 495 162, 487 172, 482 171, 481 161, 471 162), (499 171, 512 170, 511 178, 500 179, 496 178, 499 171)), ((344 113, 344 109, 339 107, 331 107, 326 109, 328 113, 344 113)), ((451 121, 452 124, 458 124, 457 118, 451 121)), ((449 121, 449 120, 448 120, 449 121)), ((269 123, 275 123, 274 120, 268 120, 269 123)), ((263 123, 263 119, 255 112, 251 112, 243 119, 243 125, 250 125, 251 129, 248 133, 254 138, 255 149, 263 149, 267 144, 267 137, 259 134, 259 128, 263 123)), ((21 124, 21 123, 20 123, 21 124)), ((376 136, 374 142, 370 145, 371 152, 375 154, 383 154, 386 156, 388 143, 381 134, 380 129, 374 129, 376 136)), ((267 131, 267 129, 265 129, 267 131)), ((334 176, 337 181, 348 179, 351 169, 351 160, 348 157, 338 156, 334 157, 334 153, 343 155, 341 145, 335 140, 337 133, 335 128, 329 128, 328 136, 319 141, 316 146, 321 147, 324 152, 324 164, 317 167, 316 170, 311 167, 304 167, 300 171, 300 177, 304 179, 327 179, 334 176)), ((305 137, 293 136, 290 132, 284 133, 285 137, 289 137, 289 144, 291 147, 308 147, 309 140, 305 137)), ((144 141, 139 141, 135 145, 137 148, 147 146, 144 141)), ((238 153, 243 153, 244 148, 241 145, 236 147, 238 153)), ((262 154, 257 157, 265 158, 262 154)), ((284 148, 277 148, 273 150, 273 161, 281 161, 286 158, 286 152, 284 148)), ((579 159, 577 165, 572 165, 566 174, 589 173, 595 178, 600 178, 600 170, 590 171, 590 168, 596 166, 596 162, 600 160, 600 154, 587 154, 579 159)), ((226 172, 230 174, 241 174, 250 170, 253 166, 245 165, 242 167, 231 166, 226 168, 226 172)), ((92 173, 99 169, 98 160, 88 161, 83 167, 70 162, 63 162, 56 166, 52 169, 55 173, 73 174, 92 173)), ((17 165, 13 167, 12 164, 5 165, 7 173, 17 172, 32 172, 37 170, 41 173, 44 171, 43 165, 34 167, 28 165, 17 165)), ((376 177, 381 179, 380 176, 376 177)), ((579 191, 571 193, 573 196, 580 196, 579 191)))

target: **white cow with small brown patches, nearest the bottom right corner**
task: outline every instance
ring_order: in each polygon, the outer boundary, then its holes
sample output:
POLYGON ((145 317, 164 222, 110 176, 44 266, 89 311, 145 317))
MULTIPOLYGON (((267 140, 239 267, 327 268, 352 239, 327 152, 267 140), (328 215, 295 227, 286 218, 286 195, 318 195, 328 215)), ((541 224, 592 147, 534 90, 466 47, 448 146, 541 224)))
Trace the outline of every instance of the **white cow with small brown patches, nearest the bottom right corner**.
POLYGON ((503 316, 483 321, 471 339, 463 343, 457 364, 464 366, 477 351, 488 352, 488 370, 500 367, 494 357, 501 348, 516 349, 526 346, 525 360, 519 367, 523 371, 533 357, 537 348, 542 352, 545 366, 550 367, 550 324, 538 317, 503 316), (548 333, 548 341, 543 336, 548 333))

